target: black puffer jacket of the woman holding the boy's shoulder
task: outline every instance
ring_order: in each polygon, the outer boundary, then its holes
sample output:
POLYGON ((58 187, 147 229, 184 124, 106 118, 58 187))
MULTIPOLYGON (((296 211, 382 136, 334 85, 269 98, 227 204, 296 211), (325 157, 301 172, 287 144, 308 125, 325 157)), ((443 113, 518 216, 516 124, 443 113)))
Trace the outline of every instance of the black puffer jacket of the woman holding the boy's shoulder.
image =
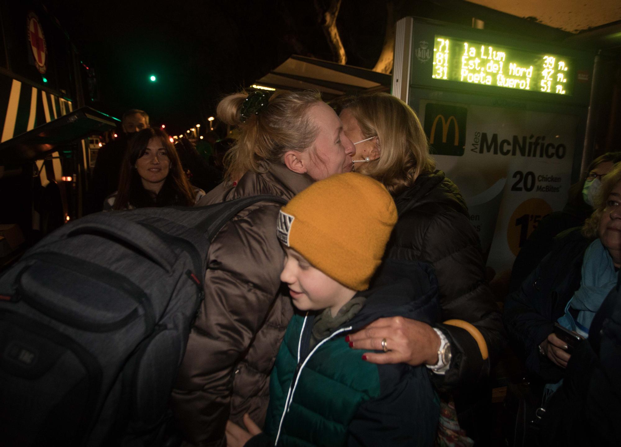
MULTIPOLYGON (((417 260, 435 269, 440 289, 440 321, 457 318, 483 334, 489 358, 483 361, 474 338, 465 330, 438 324, 451 343, 450 368, 432 374, 440 391, 459 391, 455 403, 462 428, 472 433, 466 413, 481 400, 479 387, 505 348, 500 311, 484 277, 479 237, 458 188, 442 171, 421 174, 395 197, 399 220, 388 243, 389 258, 417 260)), ((470 434, 470 433, 469 433, 470 434)), ((473 433, 474 434, 474 433, 473 433)))

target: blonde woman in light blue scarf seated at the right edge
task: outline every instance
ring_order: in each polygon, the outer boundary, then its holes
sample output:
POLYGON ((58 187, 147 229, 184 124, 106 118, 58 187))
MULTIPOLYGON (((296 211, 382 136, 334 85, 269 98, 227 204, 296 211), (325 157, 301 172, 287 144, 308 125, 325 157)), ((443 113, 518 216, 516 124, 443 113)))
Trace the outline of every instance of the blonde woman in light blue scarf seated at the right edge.
POLYGON ((555 248, 505 301, 504 322, 530 373, 554 392, 571 358, 555 322, 583 338, 617 284, 621 266, 621 164, 602 178, 584 227, 561 233, 555 248))

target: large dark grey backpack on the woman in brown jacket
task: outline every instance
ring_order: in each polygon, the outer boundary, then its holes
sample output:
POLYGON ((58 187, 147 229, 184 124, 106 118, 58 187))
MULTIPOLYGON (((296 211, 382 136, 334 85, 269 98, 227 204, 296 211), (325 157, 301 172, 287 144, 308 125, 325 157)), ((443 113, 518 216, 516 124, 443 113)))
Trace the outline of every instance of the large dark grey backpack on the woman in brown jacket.
POLYGON ((253 196, 89 215, 5 271, 2 446, 162 445, 209 243, 259 201, 286 202, 253 196))

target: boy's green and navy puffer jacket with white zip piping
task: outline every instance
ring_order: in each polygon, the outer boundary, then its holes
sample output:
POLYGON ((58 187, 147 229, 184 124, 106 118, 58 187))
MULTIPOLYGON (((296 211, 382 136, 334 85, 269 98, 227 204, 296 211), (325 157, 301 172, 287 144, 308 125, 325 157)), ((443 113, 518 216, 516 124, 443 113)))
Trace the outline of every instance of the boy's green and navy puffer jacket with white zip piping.
POLYGON ((427 368, 368 363, 344 340, 377 318, 435 321, 437 283, 427 264, 388 261, 382 272, 360 292, 360 312, 312 350, 314 315, 292 318, 271 375, 264 432, 247 446, 433 445, 440 410, 427 368))

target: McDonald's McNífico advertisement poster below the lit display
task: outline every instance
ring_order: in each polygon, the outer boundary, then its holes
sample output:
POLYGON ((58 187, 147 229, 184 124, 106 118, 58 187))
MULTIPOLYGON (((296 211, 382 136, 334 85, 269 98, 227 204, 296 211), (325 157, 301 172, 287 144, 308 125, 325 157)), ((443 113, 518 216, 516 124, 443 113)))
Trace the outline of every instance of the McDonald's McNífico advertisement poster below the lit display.
POLYGON ((497 273, 538 222, 567 201, 574 115, 420 99, 437 168, 460 188, 497 273))

